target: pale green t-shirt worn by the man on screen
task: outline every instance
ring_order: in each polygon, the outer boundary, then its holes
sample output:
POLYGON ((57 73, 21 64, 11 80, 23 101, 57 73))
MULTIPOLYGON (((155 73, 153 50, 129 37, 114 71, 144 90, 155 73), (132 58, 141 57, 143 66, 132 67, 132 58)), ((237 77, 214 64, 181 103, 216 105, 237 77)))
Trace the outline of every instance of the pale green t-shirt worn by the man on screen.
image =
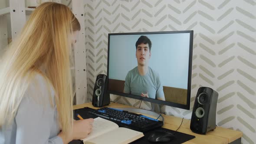
POLYGON ((139 74, 138 66, 129 71, 125 78, 124 92, 138 96, 148 93, 149 98, 164 98, 159 74, 150 67, 146 75, 139 74))

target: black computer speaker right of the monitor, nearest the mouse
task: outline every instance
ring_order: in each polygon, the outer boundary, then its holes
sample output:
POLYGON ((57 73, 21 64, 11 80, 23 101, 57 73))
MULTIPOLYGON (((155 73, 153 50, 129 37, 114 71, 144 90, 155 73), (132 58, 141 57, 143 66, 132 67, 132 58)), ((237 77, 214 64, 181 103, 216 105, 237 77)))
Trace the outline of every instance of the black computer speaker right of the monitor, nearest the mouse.
POLYGON ((206 134, 216 128, 218 92, 200 87, 192 111, 190 129, 197 134, 206 134))

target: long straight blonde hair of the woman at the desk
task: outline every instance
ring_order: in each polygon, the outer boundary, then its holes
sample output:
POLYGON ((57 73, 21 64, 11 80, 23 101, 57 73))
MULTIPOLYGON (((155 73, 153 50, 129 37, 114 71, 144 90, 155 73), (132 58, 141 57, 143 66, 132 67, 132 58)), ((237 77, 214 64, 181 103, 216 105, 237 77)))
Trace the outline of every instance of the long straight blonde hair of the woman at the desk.
POLYGON ((72 11, 60 3, 43 3, 31 14, 20 35, 3 56, 0 70, 0 128, 11 124, 36 74, 55 90, 59 126, 72 128, 71 36, 80 30, 72 11), (46 69, 45 73, 40 68, 46 69))

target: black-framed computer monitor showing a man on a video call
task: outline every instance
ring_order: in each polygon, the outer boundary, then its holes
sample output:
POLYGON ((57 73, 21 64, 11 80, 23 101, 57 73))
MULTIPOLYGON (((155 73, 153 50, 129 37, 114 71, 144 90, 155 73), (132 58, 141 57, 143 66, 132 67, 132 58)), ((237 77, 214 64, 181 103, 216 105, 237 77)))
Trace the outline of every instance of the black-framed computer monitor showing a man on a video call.
POLYGON ((107 93, 190 108, 193 31, 109 33, 107 93))

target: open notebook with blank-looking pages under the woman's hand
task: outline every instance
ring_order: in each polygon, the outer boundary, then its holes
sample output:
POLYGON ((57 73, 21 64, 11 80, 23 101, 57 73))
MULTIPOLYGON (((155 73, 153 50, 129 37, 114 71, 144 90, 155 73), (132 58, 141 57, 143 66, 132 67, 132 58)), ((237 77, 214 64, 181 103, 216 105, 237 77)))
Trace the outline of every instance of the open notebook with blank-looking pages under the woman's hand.
POLYGON ((128 128, 119 128, 117 124, 103 118, 95 118, 92 132, 84 139, 84 144, 128 144, 144 134, 128 128))

